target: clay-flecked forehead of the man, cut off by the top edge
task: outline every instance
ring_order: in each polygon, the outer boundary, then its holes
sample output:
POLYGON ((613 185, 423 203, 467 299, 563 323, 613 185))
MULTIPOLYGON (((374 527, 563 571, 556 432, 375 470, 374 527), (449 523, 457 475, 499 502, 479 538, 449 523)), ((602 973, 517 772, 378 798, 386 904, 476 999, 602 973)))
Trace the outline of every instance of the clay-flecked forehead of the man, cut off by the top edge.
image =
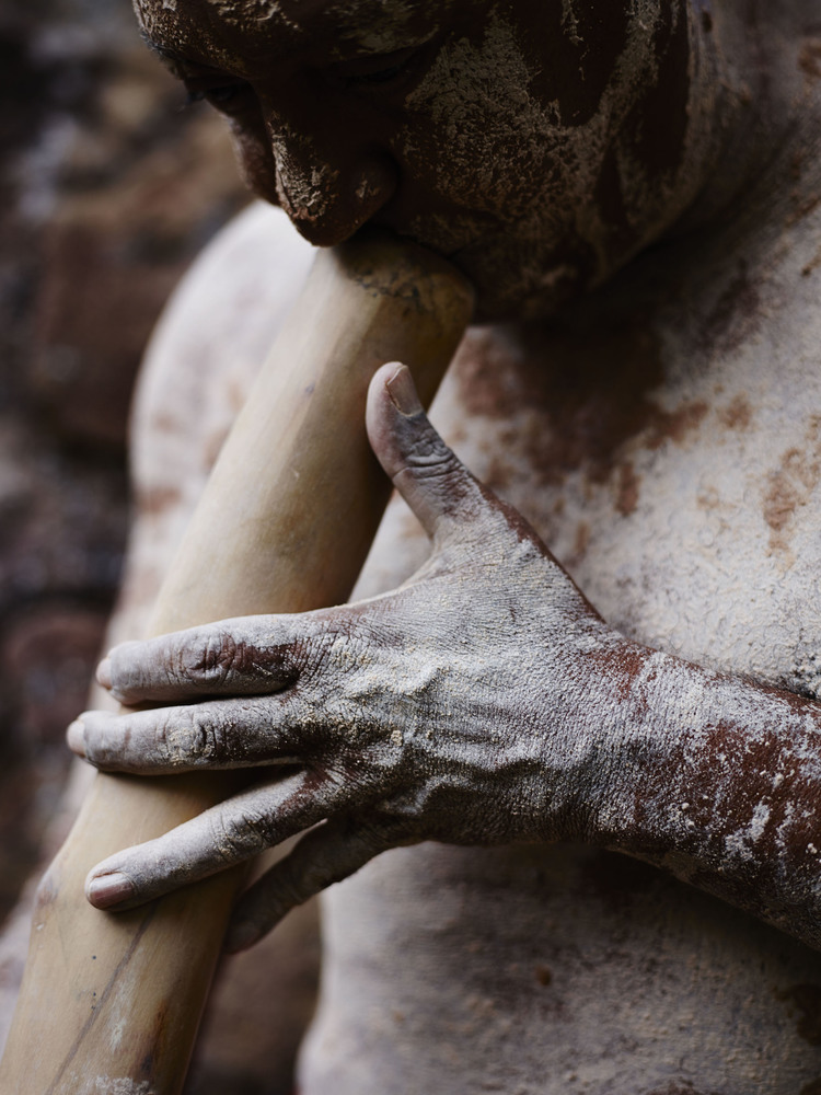
POLYGON ((134 0, 152 42, 182 53, 219 53, 233 67, 255 54, 277 54, 356 41, 396 49, 431 33, 465 0, 134 0))

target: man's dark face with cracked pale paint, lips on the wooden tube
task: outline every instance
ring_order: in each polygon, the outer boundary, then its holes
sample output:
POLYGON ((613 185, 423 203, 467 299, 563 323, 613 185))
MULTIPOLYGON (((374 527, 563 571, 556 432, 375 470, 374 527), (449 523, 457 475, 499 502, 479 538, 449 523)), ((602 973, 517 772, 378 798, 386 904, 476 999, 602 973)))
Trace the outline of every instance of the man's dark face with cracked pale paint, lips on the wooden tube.
POLYGON ((451 257, 484 319, 601 280, 658 232, 681 172, 690 43, 672 0, 136 8, 303 235, 386 226, 451 257))

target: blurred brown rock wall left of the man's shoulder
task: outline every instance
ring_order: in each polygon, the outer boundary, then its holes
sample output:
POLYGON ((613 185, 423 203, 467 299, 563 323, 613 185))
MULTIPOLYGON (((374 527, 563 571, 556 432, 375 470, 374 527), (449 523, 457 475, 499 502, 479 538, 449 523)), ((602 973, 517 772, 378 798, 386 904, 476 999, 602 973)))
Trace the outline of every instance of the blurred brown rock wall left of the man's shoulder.
POLYGON ((0 0, 0 922, 36 860, 128 521, 128 403, 246 194, 128 0, 0 0))

